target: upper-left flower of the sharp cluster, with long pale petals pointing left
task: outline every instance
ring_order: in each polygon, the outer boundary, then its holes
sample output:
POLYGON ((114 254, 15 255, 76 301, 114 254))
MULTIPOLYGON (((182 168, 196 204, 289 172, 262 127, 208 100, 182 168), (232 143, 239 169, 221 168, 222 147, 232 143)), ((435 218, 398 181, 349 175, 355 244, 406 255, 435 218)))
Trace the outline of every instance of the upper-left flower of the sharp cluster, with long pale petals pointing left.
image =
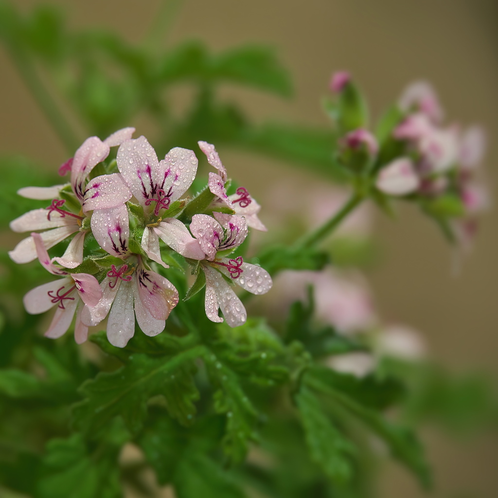
MULTIPOLYGON (((83 261, 83 243, 88 230, 82 229, 84 214, 91 210, 110 209, 123 205, 131 194, 123 187, 124 182, 118 173, 102 175, 87 183, 92 169, 109 155, 110 147, 119 145, 129 138, 134 128, 124 128, 102 141, 96 136, 87 138, 76 151, 74 158, 61 168, 63 172, 71 171, 71 188, 81 204, 79 214, 63 209, 65 201, 57 199, 64 185, 54 187, 26 187, 19 194, 31 199, 53 199, 46 209, 36 209, 16 218, 10 223, 14 232, 45 230, 41 235, 45 249, 54 247, 67 237, 76 233, 59 264, 66 268, 76 268, 83 261), (48 212, 47 212, 48 211, 48 212)), ((36 248, 32 237, 22 240, 9 251, 9 256, 16 263, 27 263, 36 259, 36 248)))

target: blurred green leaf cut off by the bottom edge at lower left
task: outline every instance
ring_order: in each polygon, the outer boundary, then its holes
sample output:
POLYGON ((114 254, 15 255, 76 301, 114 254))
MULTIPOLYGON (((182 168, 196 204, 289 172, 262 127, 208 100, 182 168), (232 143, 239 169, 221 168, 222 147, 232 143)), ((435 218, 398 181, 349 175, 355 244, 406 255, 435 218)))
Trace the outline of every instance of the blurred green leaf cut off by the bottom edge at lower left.
POLYGON ((53 439, 39 468, 35 498, 119 498, 118 448, 92 453, 81 434, 53 439))

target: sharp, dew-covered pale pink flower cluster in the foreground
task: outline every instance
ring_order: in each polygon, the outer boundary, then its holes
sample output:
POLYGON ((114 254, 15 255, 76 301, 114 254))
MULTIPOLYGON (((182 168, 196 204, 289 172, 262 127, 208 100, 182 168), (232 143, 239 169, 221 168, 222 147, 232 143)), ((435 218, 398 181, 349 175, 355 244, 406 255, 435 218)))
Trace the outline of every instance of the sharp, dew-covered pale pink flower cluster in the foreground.
POLYGON ((146 335, 162 332, 179 295, 162 274, 169 266, 161 257, 160 240, 166 250, 185 258, 198 280, 200 273, 205 277, 206 315, 213 322, 223 321, 219 309, 232 327, 246 321, 244 305, 231 284, 253 294, 271 288, 263 268, 242 256, 230 258, 246 239, 248 226, 266 229, 247 189, 239 187, 228 195, 227 172, 215 147, 199 142, 217 172, 209 174, 200 194, 181 199, 196 177, 194 151, 175 147, 159 161, 147 139, 133 139, 133 132, 124 128, 105 140, 85 140, 59 168, 61 176, 70 172, 69 184, 19 191, 27 198, 51 200, 45 209, 11 222, 13 231, 31 234, 9 252, 17 263, 38 257, 50 273, 62 277, 24 296, 32 314, 57 306, 47 337, 64 334, 75 312, 78 343, 87 339, 88 327, 106 317, 108 339, 118 347, 133 336, 135 317, 146 335), (104 162, 115 146, 116 160, 104 162), (68 238, 62 256, 50 258, 48 249, 68 238), (85 242, 91 239, 98 248, 89 249, 92 244, 85 242))

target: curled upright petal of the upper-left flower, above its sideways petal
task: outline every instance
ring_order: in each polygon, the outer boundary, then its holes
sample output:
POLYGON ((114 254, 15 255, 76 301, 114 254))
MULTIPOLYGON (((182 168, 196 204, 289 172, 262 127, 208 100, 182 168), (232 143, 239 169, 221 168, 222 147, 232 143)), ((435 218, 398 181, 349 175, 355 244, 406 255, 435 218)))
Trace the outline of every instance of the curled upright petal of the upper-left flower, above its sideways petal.
POLYGON ((71 186, 76 197, 83 201, 85 184, 90 171, 109 155, 109 145, 97 136, 87 138, 74 154, 71 167, 71 186))

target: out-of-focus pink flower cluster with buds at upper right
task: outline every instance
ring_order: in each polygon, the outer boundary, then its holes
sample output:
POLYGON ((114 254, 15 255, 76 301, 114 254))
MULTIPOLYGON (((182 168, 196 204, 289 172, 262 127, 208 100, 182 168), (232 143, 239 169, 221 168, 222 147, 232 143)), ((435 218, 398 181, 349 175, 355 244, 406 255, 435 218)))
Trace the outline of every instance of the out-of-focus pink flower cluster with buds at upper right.
POLYGON ((338 101, 330 114, 342 134, 339 161, 370 177, 381 195, 416 201, 429 215, 450 221, 453 236, 468 243, 476 214, 489 205, 479 171, 485 151, 481 127, 462 131, 445 125, 436 93, 420 81, 404 91, 374 134, 350 75, 333 75, 330 89, 338 101))

